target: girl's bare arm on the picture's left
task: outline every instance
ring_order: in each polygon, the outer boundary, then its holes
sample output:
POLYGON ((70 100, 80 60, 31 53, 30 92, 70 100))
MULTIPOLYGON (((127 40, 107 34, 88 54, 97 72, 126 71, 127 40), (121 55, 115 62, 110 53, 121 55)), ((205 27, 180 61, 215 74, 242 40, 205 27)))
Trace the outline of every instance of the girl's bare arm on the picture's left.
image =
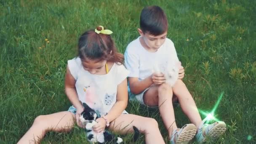
POLYGON ((65 76, 65 93, 76 109, 83 109, 83 105, 79 101, 77 91, 75 89, 75 78, 71 75, 68 66, 65 76))

